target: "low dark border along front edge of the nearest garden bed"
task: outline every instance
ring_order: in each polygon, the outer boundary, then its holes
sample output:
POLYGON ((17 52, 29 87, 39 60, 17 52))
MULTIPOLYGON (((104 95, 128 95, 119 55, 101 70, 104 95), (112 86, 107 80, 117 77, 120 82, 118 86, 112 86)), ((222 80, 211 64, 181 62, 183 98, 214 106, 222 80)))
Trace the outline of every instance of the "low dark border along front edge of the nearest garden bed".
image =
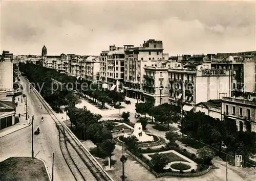
POLYGON ((139 162, 143 167, 145 167, 147 170, 151 171, 152 174, 154 174, 156 177, 162 177, 162 176, 177 176, 177 177, 195 177, 195 176, 201 176, 206 173, 208 173, 211 169, 216 168, 214 165, 209 166, 204 171, 201 172, 195 172, 195 173, 180 173, 180 172, 165 172, 165 173, 157 173, 155 170, 153 170, 149 165, 147 165, 145 162, 143 162, 140 158, 135 156, 131 151, 125 150, 127 154, 129 154, 131 157, 133 157, 137 162, 139 162))

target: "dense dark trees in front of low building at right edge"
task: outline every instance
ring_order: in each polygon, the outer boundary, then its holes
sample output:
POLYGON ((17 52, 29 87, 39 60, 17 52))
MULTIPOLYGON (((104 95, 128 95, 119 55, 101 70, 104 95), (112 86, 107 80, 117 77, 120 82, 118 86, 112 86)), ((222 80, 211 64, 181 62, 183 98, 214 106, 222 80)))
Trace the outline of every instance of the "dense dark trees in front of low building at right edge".
POLYGON ((179 123, 182 134, 212 147, 218 147, 219 154, 224 143, 227 146, 226 151, 233 156, 242 155, 244 165, 249 157, 253 158, 256 154, 255 132, 238 131, 235 121, 221 121, 202 112, 189 112, 179 123))

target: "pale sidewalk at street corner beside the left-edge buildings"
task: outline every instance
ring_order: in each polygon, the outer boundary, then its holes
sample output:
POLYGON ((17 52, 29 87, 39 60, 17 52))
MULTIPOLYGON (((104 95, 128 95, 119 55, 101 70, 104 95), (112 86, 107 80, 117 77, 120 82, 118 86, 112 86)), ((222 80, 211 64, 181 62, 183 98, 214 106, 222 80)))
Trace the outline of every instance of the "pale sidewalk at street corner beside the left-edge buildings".
POLYGON ((18 117, 18 114, 20 114, 19 122, 12 126, 6 127, 3 130, 0 130, 0 138, 6 135, 9 135, 11 133, 14 133, 18 130, 22 130, 23 128, 31 125, 31 121, 29 119, 26 120, 25 102, 24 102, 24 99, 22 102, 21 96, 22 95, 15 97, 15 102, 18 102, 18 106, 16 107, 15 117, 18 117), (19 97, 19 100, 18 100, 18 97, 19 97))

